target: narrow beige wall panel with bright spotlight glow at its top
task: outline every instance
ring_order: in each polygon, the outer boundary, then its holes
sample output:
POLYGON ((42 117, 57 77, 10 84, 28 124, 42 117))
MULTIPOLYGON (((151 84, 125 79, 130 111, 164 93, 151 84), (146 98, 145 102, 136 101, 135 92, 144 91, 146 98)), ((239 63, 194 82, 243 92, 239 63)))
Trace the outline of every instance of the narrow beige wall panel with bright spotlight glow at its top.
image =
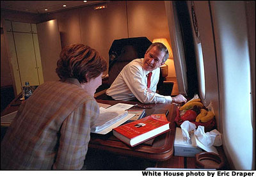
POLYGON ((60 33, 57 20, 36 24, 44 81, 59 79, 55 72, 61 52, 60 33))

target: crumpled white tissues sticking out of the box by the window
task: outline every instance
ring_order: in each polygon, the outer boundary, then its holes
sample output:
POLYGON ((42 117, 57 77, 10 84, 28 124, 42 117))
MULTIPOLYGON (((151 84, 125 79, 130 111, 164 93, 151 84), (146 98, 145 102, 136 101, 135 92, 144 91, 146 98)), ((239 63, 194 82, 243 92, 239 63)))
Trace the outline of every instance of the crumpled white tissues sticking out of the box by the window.
POLYGON ((196 146, 207 152, 214 152, 218 154, 218 151, 214 147, 222 145, 221 134, 218 130, 214 129, 211 132, 205 133, 204 126, 199 125, 196 129, 196 125, 190 121, 184 121, 180 127, 182 129, 183 139, 189 141, 189 139, 191 139, 191 132, 194 130, 196 146))

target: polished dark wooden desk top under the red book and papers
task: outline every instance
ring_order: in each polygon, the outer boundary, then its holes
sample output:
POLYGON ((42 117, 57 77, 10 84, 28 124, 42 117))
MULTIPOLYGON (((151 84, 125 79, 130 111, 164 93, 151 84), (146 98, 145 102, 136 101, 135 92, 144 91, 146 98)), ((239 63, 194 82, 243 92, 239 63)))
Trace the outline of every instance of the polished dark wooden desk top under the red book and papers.
MULTIPOLYGON (((109 100, 97 100, 102 104, 117 104, 117 101, 109 100)), ((125 104, 136 104, 136 102, 122 102, 125 104)), ((140 103, 139 103, 140 104, 140 103)), ((170 131, 162 135, 157 136, 154 139, 154 142, 151 145, 140 144, 131 148, 124 142, 119 141, 113 134, 110 132, 106 137, 104 135, 91 134, 91 141, 89 142, 89 148, 94 148, 97 150, 104 150, 110 153, 129 156, 129 157, 138 157, 138 158, 147 158, 148 160, 163 161, 168 160, 173 155, 173 142, 175 138, 175 123, 174 119, 176 116, 175 104, 147 104, 152 106, 151 109, 168 109, 169 113, 166 116, 168 121, 170 121, 170 131)), ((146 116, 149 115, 150 110, 146 109, 146 116)))

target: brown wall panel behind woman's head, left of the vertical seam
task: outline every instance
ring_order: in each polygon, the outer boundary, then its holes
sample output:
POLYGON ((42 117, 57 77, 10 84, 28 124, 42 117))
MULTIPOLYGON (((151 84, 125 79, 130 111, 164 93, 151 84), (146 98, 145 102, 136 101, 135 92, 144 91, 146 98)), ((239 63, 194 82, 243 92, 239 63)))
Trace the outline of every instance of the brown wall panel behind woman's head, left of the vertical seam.
POLYGON ((81 41, 96 49, 109 61, 108 51, 113 40, 127 38, 126 2, 111 1, 108 8, 93 10, 93 6, 81 8, 81 41))

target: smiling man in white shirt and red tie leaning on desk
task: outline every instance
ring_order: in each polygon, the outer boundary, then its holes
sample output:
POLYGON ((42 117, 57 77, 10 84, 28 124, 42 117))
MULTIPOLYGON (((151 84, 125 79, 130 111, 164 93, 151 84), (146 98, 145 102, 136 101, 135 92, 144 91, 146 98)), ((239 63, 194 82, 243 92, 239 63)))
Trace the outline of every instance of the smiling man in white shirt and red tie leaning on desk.
POLYGON ((148 47, 144 58, 134 59, 128 63, 111 87, 106 91, 106 95, 114 100, 134 100, 137 98, 141 103, 186 103, 183 95, 163 96, 156 93, 159 81, 160 66, 168 59, 168 49, 163 43, 152 43, 148 47), (150 87, 147 87, 148 73, 152 72, 150 87))

